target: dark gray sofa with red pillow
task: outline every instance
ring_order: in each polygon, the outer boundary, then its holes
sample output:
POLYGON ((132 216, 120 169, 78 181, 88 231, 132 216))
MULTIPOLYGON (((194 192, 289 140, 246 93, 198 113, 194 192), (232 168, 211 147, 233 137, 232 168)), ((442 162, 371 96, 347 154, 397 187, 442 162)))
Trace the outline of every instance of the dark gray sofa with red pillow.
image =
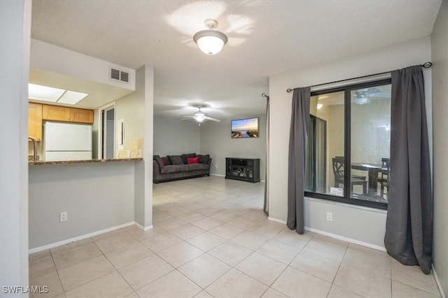
POLYGON ((195 153, 160 157, 153 156, 153 182, 210 176, 211 158, 195 153))

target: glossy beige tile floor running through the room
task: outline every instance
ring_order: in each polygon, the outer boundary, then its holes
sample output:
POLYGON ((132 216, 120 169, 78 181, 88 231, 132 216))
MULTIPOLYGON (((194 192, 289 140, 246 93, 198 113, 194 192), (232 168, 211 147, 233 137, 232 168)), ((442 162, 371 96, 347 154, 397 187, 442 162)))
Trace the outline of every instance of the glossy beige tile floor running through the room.
POLYGON ((45 297, 440 297, 419 267, 268 221, 263 191, 223 177, 155 184, 152 230, 34 253, 30 283, 45 297))

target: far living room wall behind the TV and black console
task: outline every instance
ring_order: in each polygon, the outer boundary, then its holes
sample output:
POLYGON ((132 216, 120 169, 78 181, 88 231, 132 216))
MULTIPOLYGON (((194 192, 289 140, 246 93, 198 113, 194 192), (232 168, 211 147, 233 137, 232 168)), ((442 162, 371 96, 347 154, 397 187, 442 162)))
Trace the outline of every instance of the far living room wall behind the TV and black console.
POLYGON ((207 121, 201 126, 201 153, 213 158, 211 173, 225 175, 226 157, 260 158, 260 179, 265 180, 266 169, 266 114, 244 115, 234 119, 258 117, 257 138, 232 139, 230 121, 207 121))

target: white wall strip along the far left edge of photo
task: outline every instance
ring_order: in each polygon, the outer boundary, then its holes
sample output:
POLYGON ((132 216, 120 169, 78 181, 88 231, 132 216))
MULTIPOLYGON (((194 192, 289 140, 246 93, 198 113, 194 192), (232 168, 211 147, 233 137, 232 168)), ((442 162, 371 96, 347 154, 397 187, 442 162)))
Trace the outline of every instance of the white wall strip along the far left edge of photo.
POLYGON ((0 1, 0 281, 10 286, 28 285, 30 32, 31 1, 0 1))

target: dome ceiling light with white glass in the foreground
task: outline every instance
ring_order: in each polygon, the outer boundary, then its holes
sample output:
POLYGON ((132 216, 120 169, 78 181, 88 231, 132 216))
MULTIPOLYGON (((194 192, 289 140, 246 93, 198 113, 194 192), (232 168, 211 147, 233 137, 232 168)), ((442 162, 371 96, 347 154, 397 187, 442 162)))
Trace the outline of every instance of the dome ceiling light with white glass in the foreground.
POLYGON ((195 43, 197 43, 200 50, 205 54, 218 54, 227 43, 227 36, 221 31, 213 30, 218 27, 216 20, 207 19, 204 24, 209 29, 197 32, 193 36, 193 40, 195 40, 195 43))

